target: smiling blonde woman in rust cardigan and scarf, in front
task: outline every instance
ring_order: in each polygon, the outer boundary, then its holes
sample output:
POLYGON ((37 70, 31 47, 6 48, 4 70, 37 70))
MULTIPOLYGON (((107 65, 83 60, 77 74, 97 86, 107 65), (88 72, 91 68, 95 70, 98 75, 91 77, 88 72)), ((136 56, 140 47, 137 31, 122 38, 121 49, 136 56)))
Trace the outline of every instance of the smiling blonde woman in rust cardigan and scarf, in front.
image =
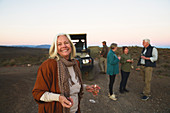
POLYGON ((32 94, 39 113, 80 113, 83 89, 97 95, 99 86, 83 85, 75 47, 68 34, 59 34, 38 69, 32 94), (97 92, 94 93, 94 89, 97 92))

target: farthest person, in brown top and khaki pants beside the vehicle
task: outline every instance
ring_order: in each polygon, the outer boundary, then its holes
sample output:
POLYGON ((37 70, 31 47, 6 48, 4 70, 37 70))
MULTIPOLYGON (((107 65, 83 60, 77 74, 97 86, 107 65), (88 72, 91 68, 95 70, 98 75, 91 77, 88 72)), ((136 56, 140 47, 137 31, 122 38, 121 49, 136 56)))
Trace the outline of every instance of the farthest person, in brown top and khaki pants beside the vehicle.
POLYGON ((102 44, 103 44, 103 48, 100 54, 99 64, 100 64, 101 73, 106 74, 108 47, 106 45, 106 41, 103 41, 102 44))

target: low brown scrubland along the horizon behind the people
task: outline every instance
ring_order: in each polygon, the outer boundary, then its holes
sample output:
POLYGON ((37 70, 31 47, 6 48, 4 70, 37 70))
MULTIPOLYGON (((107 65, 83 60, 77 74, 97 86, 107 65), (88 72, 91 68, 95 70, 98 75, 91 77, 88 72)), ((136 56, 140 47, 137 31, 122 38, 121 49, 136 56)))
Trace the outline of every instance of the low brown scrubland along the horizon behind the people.
MULTIPOLYGON (((38 45, 37 45, 38 46, 38 45)), ((45 47, 48 45, 40 46, 42 48, 31 47, 0 47, 0 67, 4 66, 22 66, 22 65, 39 65, 49 58, 49 51, 45 47)), ((100 58, 101 48, 98 46, 89 47, 90 56, 94 59, 100 58)), ((129 53, 134 60, 134 67, 137 67, 137 62, 141 54, 142 47, 129 47, 129 53)), ((117 55, 122 54, 122 47, 118 47, 115 52, 117 55)), ((154 69, 153 74, 159 76, 170 76, 170 49, 158 48, 158 61, 157 67, 154 69)))

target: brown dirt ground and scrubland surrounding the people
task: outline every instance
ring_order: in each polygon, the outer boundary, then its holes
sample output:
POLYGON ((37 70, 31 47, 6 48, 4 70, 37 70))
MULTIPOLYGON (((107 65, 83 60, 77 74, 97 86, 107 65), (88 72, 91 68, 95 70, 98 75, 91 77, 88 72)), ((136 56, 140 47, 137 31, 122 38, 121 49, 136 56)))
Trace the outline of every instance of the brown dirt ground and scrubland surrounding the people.
MULTIPOLYGON (((127 83, 129 93, 120 94, 120 74, 117 75, 114 92, 118 100, 108 98, 108 75, 100 74, 98 51, 90 48, 95 59, 93 79, 84 77, 85 84, 97 84, 101 87, 98 96, 85 92, 81 100, 82 113, 170 113, 170 49, 158 49, 159 60, 154 69, 151 82, 151 97, 147 101, 140 99, 143 88, 139 71, 133 69, 127 83), (95 103, 89 100, 95 100, 95 103)), ((142 48, 131 47, 134 66, 142 48)), ((48 58, 47 49, 5 48, 0 47, 0 113, 37 113, 38 105, 32 97, 32 89, 40 64, 48 58), (30 65, 28 65, 30 64, 30 65)), ((121 54, 121 48, 117 54, 121 54)))

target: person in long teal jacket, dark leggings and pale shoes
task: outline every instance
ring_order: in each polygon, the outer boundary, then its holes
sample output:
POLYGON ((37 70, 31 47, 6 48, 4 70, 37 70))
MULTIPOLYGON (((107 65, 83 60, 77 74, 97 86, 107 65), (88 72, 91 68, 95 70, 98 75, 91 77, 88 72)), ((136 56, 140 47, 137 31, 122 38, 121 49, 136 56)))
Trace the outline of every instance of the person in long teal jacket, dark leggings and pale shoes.
POLYGON ((109 98, 112 100, 117 100, 115 94, 113 93, 113 84, 115 81, 116 74, 119 73, 119 61, 120 57, 117 57, 115 51, 117 50, 117 44, 112 43, 110 46, 110 51, 107 55, 107 74, 109 75, 109 98))

